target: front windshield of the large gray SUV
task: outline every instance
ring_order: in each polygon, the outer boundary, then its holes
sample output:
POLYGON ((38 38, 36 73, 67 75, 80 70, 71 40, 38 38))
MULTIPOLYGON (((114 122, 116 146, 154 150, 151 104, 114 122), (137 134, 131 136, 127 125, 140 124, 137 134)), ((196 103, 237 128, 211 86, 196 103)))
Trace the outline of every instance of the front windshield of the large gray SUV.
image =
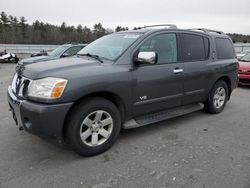
POLYGON ((118 33, 104 36, 83 48, 79 55, 91 54, 99 58, 115 60, 118 58, 141 34, 118 33))

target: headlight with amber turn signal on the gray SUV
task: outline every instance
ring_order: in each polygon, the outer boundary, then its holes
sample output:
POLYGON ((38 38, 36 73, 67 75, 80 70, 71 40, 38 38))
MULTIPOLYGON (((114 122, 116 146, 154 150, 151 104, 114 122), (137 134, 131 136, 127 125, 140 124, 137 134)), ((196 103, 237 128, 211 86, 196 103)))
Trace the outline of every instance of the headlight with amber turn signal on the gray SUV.
POLYGON ((53 77, 33 80, 28 89, 28 96, 40 99, 59 99, 67 82, 68 80, 53 77))

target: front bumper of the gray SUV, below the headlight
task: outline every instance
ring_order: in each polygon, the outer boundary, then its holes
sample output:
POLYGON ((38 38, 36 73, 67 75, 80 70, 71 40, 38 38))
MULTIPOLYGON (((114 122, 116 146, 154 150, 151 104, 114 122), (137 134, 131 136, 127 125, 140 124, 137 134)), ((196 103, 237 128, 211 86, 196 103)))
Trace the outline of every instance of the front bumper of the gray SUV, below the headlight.
POLYGON ((18 126, 40 136, 63 136, 64 120, 73 103, 41 104, 18 99, 8 87, 8 102, 18 126))

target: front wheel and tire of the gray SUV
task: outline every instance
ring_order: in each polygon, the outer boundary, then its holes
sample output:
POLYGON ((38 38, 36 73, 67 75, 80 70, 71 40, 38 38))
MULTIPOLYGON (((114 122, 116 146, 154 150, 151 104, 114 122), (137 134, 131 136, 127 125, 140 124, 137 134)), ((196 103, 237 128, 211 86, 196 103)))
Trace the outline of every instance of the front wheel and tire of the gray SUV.
POLYGON ((104 98, 89 98, 77 106, 67 120, 66 139, 75 152, 93 156, 108 150, 121 129, 117 107, 104 98))

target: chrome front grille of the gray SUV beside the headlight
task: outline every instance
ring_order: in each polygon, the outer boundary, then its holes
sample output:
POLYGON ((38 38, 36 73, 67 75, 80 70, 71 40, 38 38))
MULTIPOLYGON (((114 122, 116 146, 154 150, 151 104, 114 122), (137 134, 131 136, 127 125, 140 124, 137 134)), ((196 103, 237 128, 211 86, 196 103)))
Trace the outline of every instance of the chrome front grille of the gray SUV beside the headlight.
POLYGON ((26 91, 28 89, 29 83, 30 83, 29 79, 23 76, 19 76, 16 73, 12 80, 11 89, 17 97, 24 98, 26 91))

